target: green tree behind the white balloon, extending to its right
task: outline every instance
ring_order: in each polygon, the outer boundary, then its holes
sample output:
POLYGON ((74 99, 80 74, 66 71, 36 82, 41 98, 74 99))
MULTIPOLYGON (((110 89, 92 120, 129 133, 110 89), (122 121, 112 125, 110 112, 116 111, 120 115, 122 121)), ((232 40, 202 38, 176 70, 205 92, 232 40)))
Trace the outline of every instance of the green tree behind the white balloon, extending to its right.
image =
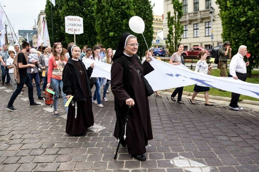
POLYGON ((133 35, 137 36, 138 43, 140 44, 137 52, 137 55, 140 57, 140 59, 142 59, 142 57, 145 55, 145 52, 149 49, 149 47, 151 47, 151 44, 152 44, 153 32, 154 32, 153 26, 152 26, 153 7, 154 5, 151 5, 151 2, 149 0, 135 1, 134 3, 135 15, 141 17, 145 23, 145 30, 143 32, 143 35, 147 41, 147 45, 146 45, 146 42, 142 34, 132 33, 133 35))

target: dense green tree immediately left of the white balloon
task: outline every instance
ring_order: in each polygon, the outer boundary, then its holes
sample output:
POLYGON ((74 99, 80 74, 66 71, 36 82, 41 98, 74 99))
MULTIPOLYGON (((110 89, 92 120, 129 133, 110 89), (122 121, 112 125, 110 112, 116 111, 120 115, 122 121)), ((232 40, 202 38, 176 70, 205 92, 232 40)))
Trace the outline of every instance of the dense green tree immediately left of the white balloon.
POLYGON ((129 20, 134 15, 132 0, 95 0, 97 41, 116 50, 119 38, 130 32, 129 20))

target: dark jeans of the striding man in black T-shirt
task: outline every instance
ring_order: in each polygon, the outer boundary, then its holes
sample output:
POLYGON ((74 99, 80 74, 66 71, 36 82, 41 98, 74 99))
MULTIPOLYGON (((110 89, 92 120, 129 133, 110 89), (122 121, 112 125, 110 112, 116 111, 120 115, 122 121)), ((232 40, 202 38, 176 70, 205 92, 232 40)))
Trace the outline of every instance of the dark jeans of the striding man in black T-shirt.
POLYGON ((32 85, 32 81, 31 78, 29 77, 29 75, 27 74, 27 76, 20 76, 20 83, 17 84, 17 88, 16 90, 13 92, 9 102, 8 102, 8 106, 12 106, 13 102, 15 101, 15 99, 17 98, 17 96, 20 94, 20 92, 22 91, 23 85, 26 84, 28 87, 28 96, 29 96, 29 101, 30 104, 34 103, 34 98, 33 98, 33 85, 32 85))

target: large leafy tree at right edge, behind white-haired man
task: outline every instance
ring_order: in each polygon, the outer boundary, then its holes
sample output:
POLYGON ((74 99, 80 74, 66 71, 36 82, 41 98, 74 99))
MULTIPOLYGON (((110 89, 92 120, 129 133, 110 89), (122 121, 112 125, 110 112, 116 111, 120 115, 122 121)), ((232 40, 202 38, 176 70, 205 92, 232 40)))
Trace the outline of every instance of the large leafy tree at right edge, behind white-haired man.
MULTIPOLYGON (((219 5, 219 16, 222 22, 223 41, 230 41, 232 55, 236 54, 240 45, 246 45, 251 54, 248 77, 251 70, 259 66, 259 1, 257 0, 216 0, 219 5)), ((246 60, 247 58, 244 58, 246 60)))

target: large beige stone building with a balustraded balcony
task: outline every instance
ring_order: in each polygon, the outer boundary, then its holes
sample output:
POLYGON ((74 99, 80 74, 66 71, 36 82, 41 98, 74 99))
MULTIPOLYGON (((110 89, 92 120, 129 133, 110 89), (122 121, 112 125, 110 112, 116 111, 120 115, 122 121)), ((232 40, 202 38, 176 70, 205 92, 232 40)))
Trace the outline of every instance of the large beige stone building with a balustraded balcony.
MULTIPOLYGON (((201 46, 210 49, 217 45, 222 45, 222 26, 218 15, 219 8, 215 0, 182 0, 183 17, 180 19, 184 26, 181 43, 184 50, 193 46, 201 46), (213 7, 213 8, 211 8, 213 7)), ((164 0, 164 14, 171 11, 173 5, 171 0, 164 0)), ((167 17, 163 20, 164 40, 167 39, 168 27, 167 17)))

